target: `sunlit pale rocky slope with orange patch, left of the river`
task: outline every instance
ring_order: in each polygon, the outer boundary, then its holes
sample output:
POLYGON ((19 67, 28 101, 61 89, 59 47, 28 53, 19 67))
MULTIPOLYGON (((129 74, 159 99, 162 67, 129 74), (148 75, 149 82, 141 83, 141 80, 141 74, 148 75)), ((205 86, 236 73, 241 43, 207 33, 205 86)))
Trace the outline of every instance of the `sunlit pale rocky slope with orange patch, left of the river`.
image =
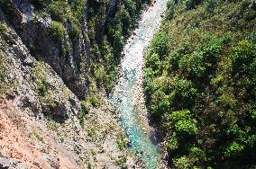
POLYGON ((89 105, 81 124, 78 97, 1 25, 0 168, 133 167, 114 108, 89 105))

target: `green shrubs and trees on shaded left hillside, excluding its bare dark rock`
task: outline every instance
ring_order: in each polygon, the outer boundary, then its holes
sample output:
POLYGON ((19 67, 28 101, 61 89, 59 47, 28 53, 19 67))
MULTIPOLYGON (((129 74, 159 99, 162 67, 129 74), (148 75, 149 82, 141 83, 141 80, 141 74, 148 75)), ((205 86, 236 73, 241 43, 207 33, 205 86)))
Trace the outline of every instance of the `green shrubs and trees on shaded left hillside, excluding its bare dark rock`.
MULTIPOLYGON (((65 22, 69 22, 69 37, 76 40, 81 34, 83 16, 87 13, 87 35, 91 44, 92 58, 88 77, 91 85, 103 87, 109 93, 117 76, 117 65, 123 49, 124 41, 133 31, 142 10, 142 4, 150 0, 122 1, 111 0, 64 0, 32 1, 36 10, 50 13, 54 22, 50 24, 50 35, 56 43, 64 38, 65 22)), ((63 47, 65 52, 65 47, 63 47)), ((87 65, 87 63, 82 64, 87 65)), ((90 92, 96 89, 91 87, 90 92)))

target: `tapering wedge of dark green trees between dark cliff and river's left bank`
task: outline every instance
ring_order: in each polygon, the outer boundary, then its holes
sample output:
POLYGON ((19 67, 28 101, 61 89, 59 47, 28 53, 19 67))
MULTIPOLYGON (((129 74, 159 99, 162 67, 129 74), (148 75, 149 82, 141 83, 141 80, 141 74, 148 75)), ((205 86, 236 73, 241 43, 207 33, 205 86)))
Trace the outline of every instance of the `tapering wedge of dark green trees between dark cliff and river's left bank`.
POLYGON ((151 0, 124 0, 118 10, 113 2, 92 0, 87 4, 88 37, 94 56, 92 72, 96 85, 103 86, 107 93, 114 85, 124 42, 138 22, 142 4, 151 0))

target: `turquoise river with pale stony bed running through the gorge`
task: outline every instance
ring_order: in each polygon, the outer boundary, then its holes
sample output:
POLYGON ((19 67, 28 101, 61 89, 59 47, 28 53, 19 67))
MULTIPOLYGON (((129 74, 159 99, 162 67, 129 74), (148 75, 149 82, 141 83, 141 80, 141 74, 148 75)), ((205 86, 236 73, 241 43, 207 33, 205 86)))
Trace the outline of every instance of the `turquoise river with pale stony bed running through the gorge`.
POLYGON ((131 151, 148 169, 160 168, 160 151, 153 129, 149 125, 144 105, 142 76, 144 49, 160 28, 161 14, 168 0, 155 0, 144 10, 142 20, 123 48, 118 83, 110 102, 120 112, 120 120, 129 140, 131 151))

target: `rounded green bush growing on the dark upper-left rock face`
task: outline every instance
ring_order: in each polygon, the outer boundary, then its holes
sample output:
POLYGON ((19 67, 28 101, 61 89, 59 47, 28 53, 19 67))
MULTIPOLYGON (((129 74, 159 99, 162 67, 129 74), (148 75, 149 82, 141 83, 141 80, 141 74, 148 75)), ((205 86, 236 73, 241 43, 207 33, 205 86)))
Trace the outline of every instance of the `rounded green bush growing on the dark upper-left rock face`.
POLYGON ((64 39, 65 28, 60 22, 51 22, 49 25, 50 36, 55 43, 60 44, 64 39))

